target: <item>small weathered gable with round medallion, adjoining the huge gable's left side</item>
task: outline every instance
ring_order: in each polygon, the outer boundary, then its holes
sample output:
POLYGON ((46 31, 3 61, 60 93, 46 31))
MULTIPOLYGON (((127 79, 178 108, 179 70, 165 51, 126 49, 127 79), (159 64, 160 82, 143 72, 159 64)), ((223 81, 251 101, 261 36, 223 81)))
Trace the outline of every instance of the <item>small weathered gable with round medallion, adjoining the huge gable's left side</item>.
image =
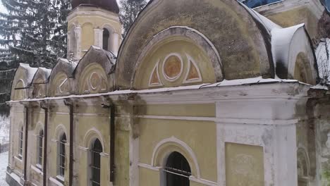
POLYGON ((116 56, 97 46, 91 46, 83 56, 73 75, 77 94, 107 92, 114 89, 116 56))

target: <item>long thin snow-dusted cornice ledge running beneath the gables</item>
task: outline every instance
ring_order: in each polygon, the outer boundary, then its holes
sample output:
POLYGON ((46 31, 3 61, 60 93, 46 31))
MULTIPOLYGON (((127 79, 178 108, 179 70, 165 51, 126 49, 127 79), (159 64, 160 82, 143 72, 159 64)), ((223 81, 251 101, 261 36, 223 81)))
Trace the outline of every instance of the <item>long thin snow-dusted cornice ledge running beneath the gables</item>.
POLYGON ((150 94, 150 93, 159 93, 159 92, 171 92, 178 90, 188 90, 188 89, 203 89, 208 87, 231 87, 231 86, 240 86, 240 85, 256 85, 256 84, 267 84, 267 83, 280 83, 280 82, 288 82, 288 83, 299 83, 302 85, 311 86, 305 84, 303 82, 299 82, 298 80, 282 80, 282 79, 263 79, 262 77, 254 77, 247 79, 238 79, 238 80, 223 80, 222 82, 216 83, 203 83, 200 85, 190 85, 190 86, 181 86, 181 87, 164 87, 159 89, 142 89, 142 90, 116 90, 114 92, 106 92, 99 94, 72 94, 66 97, 45 97, 41 99, 23 99, 23 100, 11 100, 7 101, 8 104, 19 103, 21 101, 46 101, 46 100, 59 100, 59 99, 71 99, 71 98, 90 98, 90 97, 102 97, 102 96, 111 96, 111 95, 119 95, 119 94, 150 94))

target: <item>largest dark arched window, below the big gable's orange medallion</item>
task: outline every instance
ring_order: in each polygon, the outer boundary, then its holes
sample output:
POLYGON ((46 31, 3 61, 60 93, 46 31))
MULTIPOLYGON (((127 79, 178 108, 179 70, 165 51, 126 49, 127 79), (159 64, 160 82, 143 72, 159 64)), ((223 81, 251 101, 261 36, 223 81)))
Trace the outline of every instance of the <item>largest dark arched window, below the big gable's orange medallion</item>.
POLYGON ((164 172, 166 174, 166 186, 189 186, 189 176, 191 175, 191 170, 188 161, 185 157, 173 151, 166 161, 166 166, 164 167, 164 172))

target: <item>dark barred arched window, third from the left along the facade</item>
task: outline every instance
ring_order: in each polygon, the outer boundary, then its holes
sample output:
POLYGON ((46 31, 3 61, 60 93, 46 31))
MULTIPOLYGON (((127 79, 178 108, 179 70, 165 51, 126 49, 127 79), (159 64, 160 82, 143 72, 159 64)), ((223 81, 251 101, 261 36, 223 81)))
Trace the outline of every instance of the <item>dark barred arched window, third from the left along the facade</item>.
POLYGON ((60 140, 57 144, 58 155, 57 155, 57 178, 64 181, 64 171, 66 166, 66 134, 61 135, 60 140))

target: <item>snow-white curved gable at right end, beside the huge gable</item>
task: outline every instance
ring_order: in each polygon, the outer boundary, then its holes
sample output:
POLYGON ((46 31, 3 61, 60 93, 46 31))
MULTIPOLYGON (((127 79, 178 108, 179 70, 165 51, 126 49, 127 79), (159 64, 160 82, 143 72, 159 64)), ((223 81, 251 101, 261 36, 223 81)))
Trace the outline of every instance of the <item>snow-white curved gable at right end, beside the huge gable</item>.
POLYGON ((272 34, 276 75, 316 85, 319 77, 317 61, 305 26, 277 29, 272 34))

